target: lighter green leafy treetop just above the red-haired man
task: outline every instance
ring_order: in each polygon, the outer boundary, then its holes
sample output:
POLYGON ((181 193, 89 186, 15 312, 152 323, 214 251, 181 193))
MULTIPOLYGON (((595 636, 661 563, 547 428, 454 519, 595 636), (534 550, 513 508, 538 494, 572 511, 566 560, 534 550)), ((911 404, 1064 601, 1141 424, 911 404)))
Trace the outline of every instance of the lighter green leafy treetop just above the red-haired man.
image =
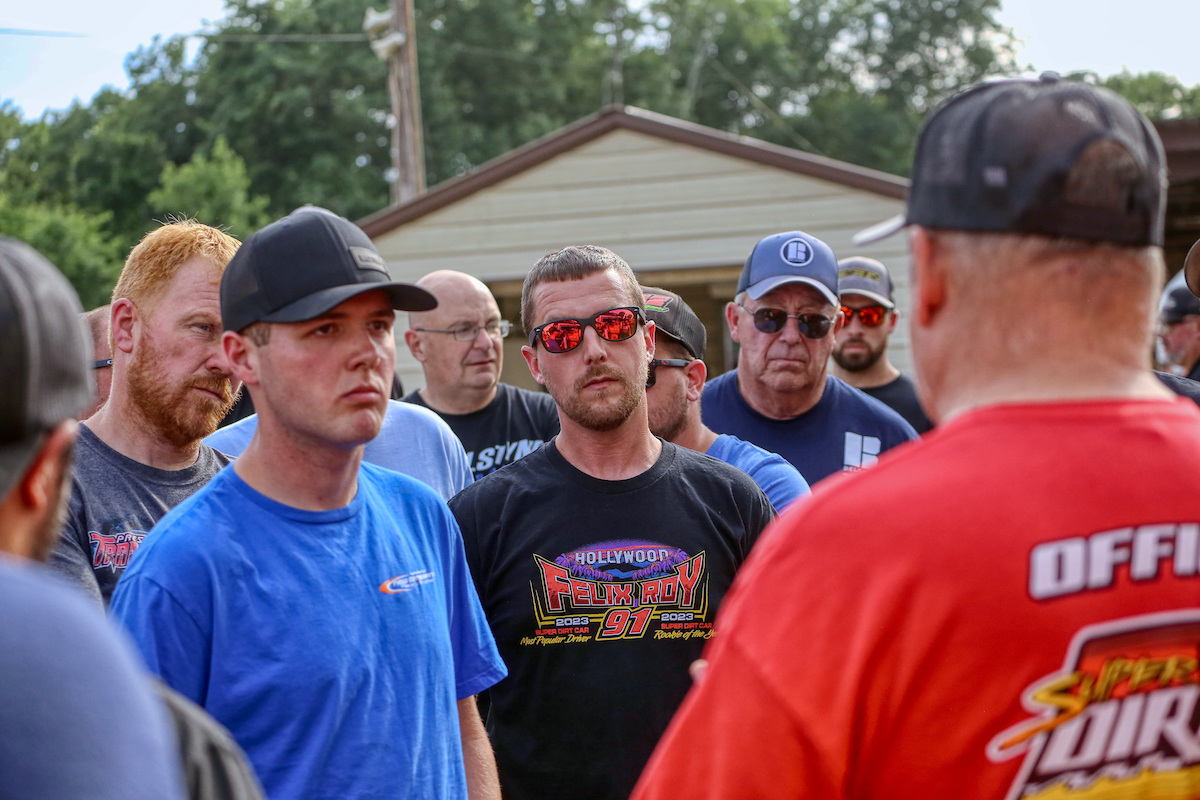
POLYGON ((246 163, 224 137, 217 137, 211 156, 197 152, 181 167, 167 162, 160 184, 149 198, 160 219, 193 217, 238 239, 271 221, 268 198, 251 197, 246 163))

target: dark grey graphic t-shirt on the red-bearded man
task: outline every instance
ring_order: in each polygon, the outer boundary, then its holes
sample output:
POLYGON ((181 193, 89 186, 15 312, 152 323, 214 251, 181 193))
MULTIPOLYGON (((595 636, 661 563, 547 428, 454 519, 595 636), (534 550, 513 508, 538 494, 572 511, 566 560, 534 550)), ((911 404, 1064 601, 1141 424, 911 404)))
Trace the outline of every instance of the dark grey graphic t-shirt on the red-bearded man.
POLYGON ((232 461, 200 445, 191 467, 155 469, 122 456, 86 425, 79 426, 67 519, 50 567, 107 607, 146 531, 232 461))

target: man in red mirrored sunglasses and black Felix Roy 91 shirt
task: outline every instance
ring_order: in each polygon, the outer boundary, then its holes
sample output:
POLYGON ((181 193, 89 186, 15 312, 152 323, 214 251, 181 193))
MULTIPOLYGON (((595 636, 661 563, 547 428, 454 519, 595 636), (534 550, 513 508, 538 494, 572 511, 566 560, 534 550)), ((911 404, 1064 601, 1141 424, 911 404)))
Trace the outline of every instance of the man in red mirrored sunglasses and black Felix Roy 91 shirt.
POLYGON ((521 321, 562 432, 450 501, 509 667, 487 728, 506 798, 623 799, 773 512, 742 470, 650 433, 654 323, 616 253, 542 258, 521 321))

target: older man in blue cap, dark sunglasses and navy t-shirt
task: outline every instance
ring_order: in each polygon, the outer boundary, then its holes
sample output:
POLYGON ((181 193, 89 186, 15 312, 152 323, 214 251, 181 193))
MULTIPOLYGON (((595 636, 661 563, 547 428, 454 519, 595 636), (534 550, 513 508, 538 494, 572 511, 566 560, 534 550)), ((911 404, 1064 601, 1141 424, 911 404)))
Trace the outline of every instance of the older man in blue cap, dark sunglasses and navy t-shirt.
POLYGON ((704 385, 713 431, 778 452, 814 485, 917 438, 899 414, 829 374, 842 326, 838 259, 816 236, 760 240, 725 321, 740 348, 737 368, 704 385))

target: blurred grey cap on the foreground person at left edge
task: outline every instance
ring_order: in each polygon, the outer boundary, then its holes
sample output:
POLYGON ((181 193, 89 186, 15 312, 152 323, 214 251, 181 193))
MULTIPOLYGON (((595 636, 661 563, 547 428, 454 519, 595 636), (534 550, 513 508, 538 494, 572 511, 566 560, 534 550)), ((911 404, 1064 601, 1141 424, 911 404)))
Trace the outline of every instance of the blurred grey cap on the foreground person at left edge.
POLYGON ((24 475, 41 437, 77 417, 94 392, 79 296, 29 245, 0 236, 0 497, 24 475))

